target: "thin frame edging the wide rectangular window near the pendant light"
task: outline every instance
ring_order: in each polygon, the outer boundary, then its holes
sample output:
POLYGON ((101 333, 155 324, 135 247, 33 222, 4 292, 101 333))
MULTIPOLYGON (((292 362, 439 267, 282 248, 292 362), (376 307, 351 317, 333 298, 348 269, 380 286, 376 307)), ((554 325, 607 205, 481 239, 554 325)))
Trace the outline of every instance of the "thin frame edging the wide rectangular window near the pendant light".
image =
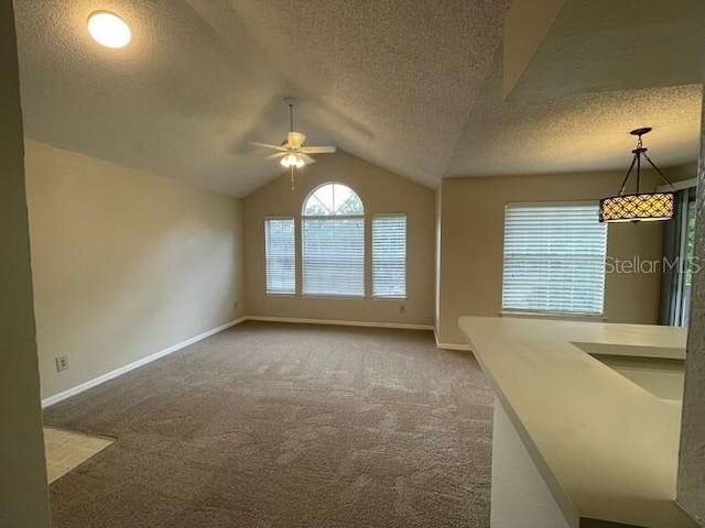
POLYGON ((501 311, 500 315, 506 316, 540 316, 540 317, 560 317, 560 318, 581 318, 581 319, 605 319, 605 294, 607 285, 607 246, 609 231, 607 224, 600 224, 598 222, 599 205, 596 200, 576 200, 576 201, 534 201, 534 202, 507 202, 505 204, 503 216, 503 229, 502 229, 502 286, 501 286, 501 311), (505 292, 506 292, 506 267, 507 267, 507 211, 509 208, 541 208, 541 207, 595 207, 595 223, 596 226, 603 226, 605 232, 604 242, 604 257, 605 262, 601 266, 603 279, 601 279, 601 305, 599 312, 578 312, 566 310, 540 310, 535 308, 507 308, 505 306, 505 292))

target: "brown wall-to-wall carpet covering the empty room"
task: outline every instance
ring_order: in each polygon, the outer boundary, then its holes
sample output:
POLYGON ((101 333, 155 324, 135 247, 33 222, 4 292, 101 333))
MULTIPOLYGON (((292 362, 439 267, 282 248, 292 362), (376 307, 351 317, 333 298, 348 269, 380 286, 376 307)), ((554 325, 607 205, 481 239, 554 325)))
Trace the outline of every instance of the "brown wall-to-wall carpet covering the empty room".
POLYGON ((492 395, 424 331, 247 322, 57 404, 55 528, 486 527, 492 395))

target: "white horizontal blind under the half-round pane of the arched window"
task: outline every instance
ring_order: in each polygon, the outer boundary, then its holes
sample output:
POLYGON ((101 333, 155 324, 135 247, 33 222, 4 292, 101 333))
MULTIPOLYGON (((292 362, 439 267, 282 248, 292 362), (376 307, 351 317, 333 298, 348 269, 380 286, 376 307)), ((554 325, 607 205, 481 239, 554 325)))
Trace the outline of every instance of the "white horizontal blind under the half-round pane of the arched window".
POLYGON ((303 220, 303 293, 365 296, 365 219, 303 220))

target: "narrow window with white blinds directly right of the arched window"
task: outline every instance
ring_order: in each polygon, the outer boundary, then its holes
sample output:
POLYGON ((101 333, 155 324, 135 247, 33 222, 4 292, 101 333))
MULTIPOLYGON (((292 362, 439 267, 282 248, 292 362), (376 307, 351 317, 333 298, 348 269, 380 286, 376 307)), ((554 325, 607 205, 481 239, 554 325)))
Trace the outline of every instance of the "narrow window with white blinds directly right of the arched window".
POLYGON ((372 219, 372 296, 406 297, 406 216, 372 219))

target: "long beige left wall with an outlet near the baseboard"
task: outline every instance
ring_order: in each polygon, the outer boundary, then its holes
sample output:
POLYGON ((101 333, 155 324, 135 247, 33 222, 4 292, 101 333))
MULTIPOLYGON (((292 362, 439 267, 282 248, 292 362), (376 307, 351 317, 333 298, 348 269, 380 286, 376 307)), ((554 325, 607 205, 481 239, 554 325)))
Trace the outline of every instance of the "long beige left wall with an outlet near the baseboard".
POLYGON ((35 142, 26 177, 44 398, 243 312, 239 200, 35 142))

